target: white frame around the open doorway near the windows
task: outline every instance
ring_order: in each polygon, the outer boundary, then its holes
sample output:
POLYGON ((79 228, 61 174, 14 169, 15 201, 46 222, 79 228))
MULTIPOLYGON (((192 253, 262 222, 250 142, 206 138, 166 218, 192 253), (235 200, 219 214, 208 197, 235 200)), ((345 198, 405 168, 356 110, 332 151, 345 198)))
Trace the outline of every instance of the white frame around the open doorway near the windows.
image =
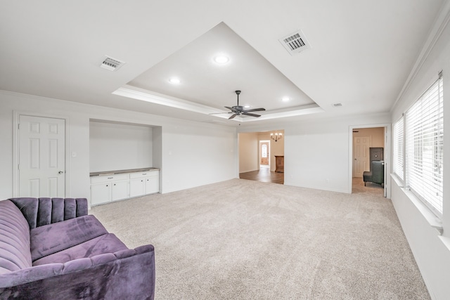
POLYGON ((370 125, 350 125, 349 126, 349 157, 348 157, 348 191, 347 193, 352 194, 353 187, 353 130, 358 128, 376 128, 384 127, 385 129, 385 149, 384 149, 384 160, 385 160, 385 197, 387 199, 391 198, 391 185, 390 185, 390 169, 391 169, 391 124, 370 124, 370 125))

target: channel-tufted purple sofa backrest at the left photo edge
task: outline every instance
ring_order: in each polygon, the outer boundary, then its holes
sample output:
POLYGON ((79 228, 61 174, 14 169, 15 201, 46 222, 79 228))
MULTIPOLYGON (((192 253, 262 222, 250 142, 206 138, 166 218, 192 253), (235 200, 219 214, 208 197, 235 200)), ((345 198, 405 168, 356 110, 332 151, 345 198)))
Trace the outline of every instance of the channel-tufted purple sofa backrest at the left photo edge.
POLYGON ((0 201, 0 274, 30 266, 28 222, 13 202, 0 201))

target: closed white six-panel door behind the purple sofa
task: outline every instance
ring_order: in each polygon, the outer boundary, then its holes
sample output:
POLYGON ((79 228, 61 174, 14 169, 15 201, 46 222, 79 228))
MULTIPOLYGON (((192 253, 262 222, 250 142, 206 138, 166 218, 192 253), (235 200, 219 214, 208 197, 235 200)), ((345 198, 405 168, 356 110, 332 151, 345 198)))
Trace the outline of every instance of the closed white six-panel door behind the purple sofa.
POLYGON ((65 120, 19 117, 19 197, 65 197, 65 120))

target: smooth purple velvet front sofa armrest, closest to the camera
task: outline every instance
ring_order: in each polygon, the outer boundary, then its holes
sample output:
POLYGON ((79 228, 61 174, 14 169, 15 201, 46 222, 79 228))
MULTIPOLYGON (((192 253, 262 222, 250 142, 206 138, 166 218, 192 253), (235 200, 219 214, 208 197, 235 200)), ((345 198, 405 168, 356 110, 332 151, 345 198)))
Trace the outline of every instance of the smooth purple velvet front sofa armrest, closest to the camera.
POLYGON ((0 299, 153 300, 154 294, 155 250, 150 244, 0 275, 0 299))

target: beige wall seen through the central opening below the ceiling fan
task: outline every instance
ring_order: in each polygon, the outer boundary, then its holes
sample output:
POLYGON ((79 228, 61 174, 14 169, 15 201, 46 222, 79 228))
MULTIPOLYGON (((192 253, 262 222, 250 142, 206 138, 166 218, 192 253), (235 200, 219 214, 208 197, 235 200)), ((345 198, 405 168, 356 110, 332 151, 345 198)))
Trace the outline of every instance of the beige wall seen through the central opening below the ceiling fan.
POLYGON ((259 170, 259 142, 255 132, 239 134, 239 173, 259 170))

